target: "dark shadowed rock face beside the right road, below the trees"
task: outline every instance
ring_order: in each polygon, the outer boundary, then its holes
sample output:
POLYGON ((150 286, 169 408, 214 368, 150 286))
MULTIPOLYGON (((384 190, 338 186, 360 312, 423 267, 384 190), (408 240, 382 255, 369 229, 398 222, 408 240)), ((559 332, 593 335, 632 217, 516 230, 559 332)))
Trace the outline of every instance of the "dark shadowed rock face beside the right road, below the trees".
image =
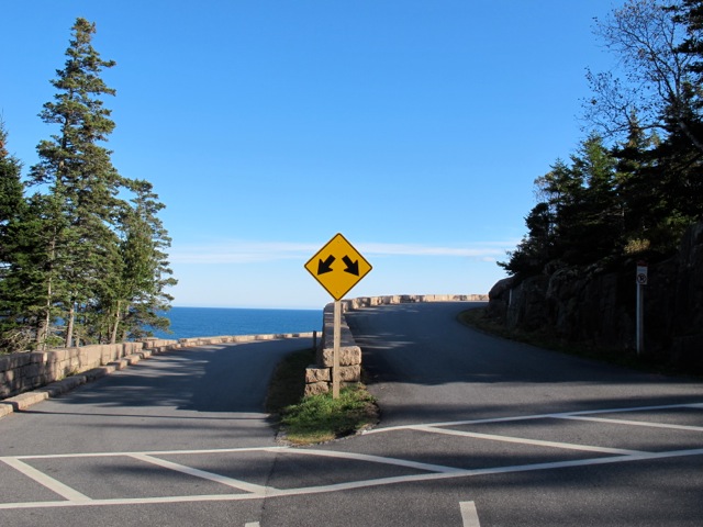
MULTIPOLYGON (((523 281, 506 278, 489 293, 489 316, 511 328, 546 330, 568 341, 635 348, 636 262, 618 271, 559 269, 523 281)), ((703 223, 679 253, 649 266, 644 290, 644 351, 703 371, 703 223)))

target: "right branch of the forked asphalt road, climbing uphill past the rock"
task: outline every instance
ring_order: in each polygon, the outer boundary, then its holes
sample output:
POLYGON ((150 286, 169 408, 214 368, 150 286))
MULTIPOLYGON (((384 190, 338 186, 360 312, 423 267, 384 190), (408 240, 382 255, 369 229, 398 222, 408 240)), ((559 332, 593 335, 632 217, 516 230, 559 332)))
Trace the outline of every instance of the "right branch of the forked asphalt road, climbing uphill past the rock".
POLYGON ((383 425, 701 402, 696 382, 636 373, 467 328, 471 303, 350 313, 383 425))

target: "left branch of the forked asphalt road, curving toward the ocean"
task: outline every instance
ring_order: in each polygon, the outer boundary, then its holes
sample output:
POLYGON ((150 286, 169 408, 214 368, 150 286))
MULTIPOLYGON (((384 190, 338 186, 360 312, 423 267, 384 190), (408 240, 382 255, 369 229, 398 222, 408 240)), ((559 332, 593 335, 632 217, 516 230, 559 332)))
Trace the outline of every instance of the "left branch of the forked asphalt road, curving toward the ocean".
MULTIPOLYGON (((0 455, 275 445, 264 401, 292 338, 155 355, 0 419, 0 455)), ((1 524, 1 523, 0 523, 1 524)))

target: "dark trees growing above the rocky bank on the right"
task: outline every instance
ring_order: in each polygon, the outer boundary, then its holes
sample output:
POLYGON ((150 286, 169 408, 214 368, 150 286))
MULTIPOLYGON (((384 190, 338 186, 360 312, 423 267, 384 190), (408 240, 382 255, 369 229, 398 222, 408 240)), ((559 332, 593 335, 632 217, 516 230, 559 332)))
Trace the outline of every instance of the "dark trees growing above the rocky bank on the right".
POLYGON ((703 217, 702 32, 703 0, 629 0, 596 21, 621 70, 588 74, 596 132, 536 179, 510 273, 663 258, 703 217))

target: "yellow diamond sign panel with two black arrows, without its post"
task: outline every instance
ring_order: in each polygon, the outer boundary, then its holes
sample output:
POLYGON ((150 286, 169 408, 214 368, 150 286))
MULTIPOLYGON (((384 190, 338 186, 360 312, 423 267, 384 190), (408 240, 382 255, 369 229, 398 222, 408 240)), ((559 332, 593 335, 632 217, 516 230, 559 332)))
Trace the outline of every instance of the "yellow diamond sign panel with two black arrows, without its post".
POLYGON ((342 234, 327 242, 305 269, 327 290, 334 300, 342 300, 371 270, 371 265, 342 234))

